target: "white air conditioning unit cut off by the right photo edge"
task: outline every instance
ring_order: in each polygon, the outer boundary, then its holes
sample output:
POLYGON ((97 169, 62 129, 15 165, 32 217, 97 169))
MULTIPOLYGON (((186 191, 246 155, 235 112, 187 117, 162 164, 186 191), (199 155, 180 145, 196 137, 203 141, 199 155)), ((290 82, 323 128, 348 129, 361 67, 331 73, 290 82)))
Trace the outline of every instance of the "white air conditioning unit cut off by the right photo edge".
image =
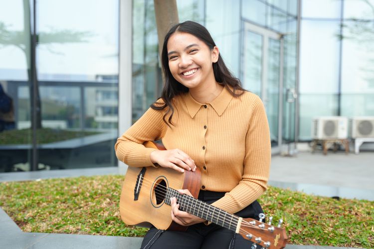
POLYGON ((352 138, 374 137, 374 117, 353 117, 350 126, 352 138))

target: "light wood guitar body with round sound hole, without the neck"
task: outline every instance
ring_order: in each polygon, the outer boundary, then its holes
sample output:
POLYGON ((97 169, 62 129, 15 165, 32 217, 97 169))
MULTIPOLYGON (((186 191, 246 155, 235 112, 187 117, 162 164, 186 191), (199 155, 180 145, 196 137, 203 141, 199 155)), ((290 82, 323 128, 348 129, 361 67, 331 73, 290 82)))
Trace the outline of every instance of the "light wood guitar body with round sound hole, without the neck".
MULTIPOLYGON (((152 142, 145 145, 158 146, 152 142)), ((197 198, 201 179, 199 169, 196 168, 194 172, 185 170, 181 173, 171 168, 153 166, 144 168, 128 167, 127 169, 120 198, 121 219, 127 225, 150 227, 152 224, 158 229, 186 231, 187 227, 173 222, 172 207, 164 201, 165 189, 169 187, 188 189, 192 196, 197 198), (138 175, 144 168, 144 176, 139 180, 138 175), (140 190, 137 200, 134 200, 136 188, 140 190)))

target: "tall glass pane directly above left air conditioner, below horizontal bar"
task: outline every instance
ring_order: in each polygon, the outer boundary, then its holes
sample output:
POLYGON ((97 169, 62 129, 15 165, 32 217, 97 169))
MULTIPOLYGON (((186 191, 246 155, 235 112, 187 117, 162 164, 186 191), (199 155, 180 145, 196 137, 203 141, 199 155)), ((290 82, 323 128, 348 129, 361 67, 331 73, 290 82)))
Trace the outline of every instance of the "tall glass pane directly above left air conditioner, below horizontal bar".
POLYGON ((315 116, 338 114, 339 22, 301 23, 300 37, 300 139, 311 138, 315 116))

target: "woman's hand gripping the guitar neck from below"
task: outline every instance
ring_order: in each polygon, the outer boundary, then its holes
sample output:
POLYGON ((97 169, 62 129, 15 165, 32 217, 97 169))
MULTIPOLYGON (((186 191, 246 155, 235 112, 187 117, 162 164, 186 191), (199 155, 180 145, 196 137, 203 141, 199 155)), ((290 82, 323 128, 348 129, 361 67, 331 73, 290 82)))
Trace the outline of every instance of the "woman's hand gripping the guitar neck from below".
MULTIPOLYGON (((188 189, 179 189, 178 192, 181 194, 192 196, 188 189)), ((177 198, 171 198, 172 204, 172 219, 175 223, 182 226, 191 226, 193 224, 204 222, 204 219, 198 218, 197 216, 188 214, 187 212, 179 210, 180 205, 177 204, 177 198)))

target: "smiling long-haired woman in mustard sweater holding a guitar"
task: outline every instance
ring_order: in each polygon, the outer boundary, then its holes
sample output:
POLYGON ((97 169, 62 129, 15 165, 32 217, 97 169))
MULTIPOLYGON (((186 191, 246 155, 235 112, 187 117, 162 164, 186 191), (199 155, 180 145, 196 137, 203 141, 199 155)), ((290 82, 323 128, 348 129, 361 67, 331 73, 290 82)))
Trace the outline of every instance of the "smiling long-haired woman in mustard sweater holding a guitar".
MULTIPOLYGON (((186 21, 166 34, 162 51, 162 97, 120 138, 119 160, 132 167, 201 170, 198 199, 228 213, 258 219, 256 199, 266 190, 270 132, 261 100, 240 87, 202 25, 186 21), (162 139, 168 150, 145 148, 162 139)), ((188 190, 179 190, 189 194, 188 190)), ((240 235, 178 209, 172 219, 186 232, 151 228, 142 248, 248 248, 240 235)))

